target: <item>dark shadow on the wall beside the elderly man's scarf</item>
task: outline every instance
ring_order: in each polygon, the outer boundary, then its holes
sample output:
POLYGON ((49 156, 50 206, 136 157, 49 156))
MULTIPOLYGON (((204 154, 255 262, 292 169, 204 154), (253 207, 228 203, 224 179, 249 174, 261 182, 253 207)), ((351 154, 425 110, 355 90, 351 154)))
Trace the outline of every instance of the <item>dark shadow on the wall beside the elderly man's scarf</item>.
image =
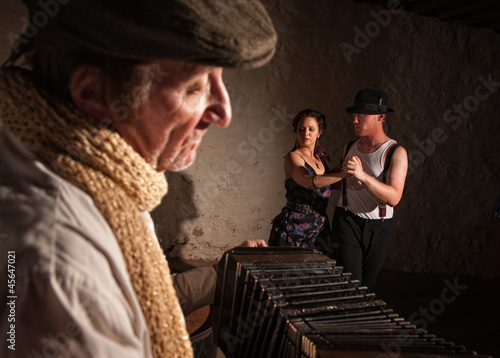
POLYGON ((198 218, 200 214, 194 203, 191 178, 183 173, 167 172, 165 175, 168 193, 151 212, 151 216, 163 252, 169 257, 175 247, 182 247, 190 240, 190 236, 182 229, 183 223, 198 218))

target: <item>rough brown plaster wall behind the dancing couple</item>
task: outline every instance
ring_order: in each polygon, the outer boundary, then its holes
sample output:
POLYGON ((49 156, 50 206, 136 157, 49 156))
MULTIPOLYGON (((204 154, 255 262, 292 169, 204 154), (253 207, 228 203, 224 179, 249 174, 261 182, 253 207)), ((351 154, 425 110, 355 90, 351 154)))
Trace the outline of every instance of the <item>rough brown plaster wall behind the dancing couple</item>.
MULTIPOLYGON (((377 87, 396 109, 388 133, 410 154, 385 268, 481 274, 500 198, 500 37, 349 0, 264 3, 279 33, 275 58, 225 71, 233 123, 209 131, 190 169, 167 174, 169 194, 153 216, 169 255, 215 260, 245 239, 267 239, 284 204, 293 115, 324 112, 322 144, 338 160, 353 138, 345 107, 358 89, 377 87)), ((25 14, 18 0, 0 8, 4 60, 25 14)))

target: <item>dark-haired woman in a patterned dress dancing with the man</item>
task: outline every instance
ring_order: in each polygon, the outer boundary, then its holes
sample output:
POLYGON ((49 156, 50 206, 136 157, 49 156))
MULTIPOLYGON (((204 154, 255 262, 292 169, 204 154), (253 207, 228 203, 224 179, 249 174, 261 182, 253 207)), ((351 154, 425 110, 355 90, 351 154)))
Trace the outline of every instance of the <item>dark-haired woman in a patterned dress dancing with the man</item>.
POLYGON ((329 172, 327 154, 319 145, 319 138, 326 128, 323 113, 302 110, 295 116, 292 125, 297 139, 285 156, 287 202, 273 219, 269 245, 325 251, 331 235, 326 213, 330 185, 349 174, 329 172))

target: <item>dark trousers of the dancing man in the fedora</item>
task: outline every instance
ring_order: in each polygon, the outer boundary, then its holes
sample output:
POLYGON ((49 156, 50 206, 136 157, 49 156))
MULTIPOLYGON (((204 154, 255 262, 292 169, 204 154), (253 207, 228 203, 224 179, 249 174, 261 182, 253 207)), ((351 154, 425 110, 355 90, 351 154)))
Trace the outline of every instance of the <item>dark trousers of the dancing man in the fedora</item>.
POLYGON ((360 280, 368 291, 373 289, 377 275, 392 242, 392 220, 367 220, 337 207, 332 222, 333 258, 351 279, 360 280))

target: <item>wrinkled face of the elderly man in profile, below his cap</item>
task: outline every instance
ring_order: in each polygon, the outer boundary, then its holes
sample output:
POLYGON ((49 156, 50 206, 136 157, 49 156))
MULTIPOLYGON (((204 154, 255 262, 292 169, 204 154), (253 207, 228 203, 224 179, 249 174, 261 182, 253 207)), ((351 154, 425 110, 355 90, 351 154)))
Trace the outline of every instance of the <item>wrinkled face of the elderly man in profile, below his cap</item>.
POLYGON ((157 171, 191 165, 210 124, 227 127, 231 104, 222 68, 158 61, 162 81, 131 121, 115 122, 120 135, 157 171))

